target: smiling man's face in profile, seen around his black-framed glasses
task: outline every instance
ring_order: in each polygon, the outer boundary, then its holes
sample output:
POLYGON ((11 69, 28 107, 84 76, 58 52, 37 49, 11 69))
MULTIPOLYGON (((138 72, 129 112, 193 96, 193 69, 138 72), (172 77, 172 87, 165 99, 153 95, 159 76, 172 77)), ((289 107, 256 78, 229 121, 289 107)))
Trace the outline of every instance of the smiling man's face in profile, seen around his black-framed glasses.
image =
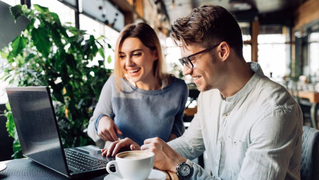
MULTIPOLYGON (((193 69, 190 69, 186 65, 183 67, 183 74, 189 74, 193 77, 194 83, 199 91, 218 89, 218 87, 220 87, 222 77, 225 74, 225 68, 222 66, 221 60, 214 55, 217 54, 217 48, 218 47, 190 57, 189 59, 194 65, 193 69)), ((181 56, 187 57, 204 49, 206 48, 198 44, 192 44, 184 48, 181 47, 181 56)))

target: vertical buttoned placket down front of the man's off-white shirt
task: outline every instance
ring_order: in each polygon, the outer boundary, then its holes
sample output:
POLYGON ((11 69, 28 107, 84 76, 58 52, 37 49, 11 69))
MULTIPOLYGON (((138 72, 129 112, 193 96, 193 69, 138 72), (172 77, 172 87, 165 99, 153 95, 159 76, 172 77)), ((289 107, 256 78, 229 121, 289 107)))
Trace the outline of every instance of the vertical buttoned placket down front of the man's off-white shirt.
POLYGON ((220 109, 219 115, 219 133, 217 139, 217 146, 216 146, 216 156, 215 156, 215 171, 217 172, 217 176, 219 176, 219 165, 220 165, 220 157, 221 157, 221 149, 222 149, 222 134, 226 127, 227 119, 229 117, 229 113, 232 109, 233 103, 222 101, 222 108, 220 109))

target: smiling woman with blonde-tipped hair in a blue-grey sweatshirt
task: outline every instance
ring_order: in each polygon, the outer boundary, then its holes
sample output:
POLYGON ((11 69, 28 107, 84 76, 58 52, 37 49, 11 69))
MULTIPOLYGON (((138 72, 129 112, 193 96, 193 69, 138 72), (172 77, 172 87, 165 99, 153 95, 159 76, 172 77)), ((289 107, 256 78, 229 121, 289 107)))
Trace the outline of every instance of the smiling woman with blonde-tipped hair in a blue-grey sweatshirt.
POLYGON ((164 73, 162 51, 155 31, 146 23, 129 24, 115 47, 114 74, 103 86, 88 126, 95 142, 129 137, 139 145, 160 137, 182 135, 188 87, 164 73))

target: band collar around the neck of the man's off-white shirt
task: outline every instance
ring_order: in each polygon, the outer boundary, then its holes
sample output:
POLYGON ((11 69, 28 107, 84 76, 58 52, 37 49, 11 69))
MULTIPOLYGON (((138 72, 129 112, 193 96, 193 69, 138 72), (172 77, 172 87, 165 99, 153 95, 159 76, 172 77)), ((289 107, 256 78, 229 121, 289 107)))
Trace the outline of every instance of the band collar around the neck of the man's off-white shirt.
POLYGON ((236 94, 229 98, 224 98, 223 95, 220 94, 220 97, 226 101, 236 101, 246 96, 257 84, 257 82, 264 76, 263 70, 260 65, 256 62, 248 62, 247 63, 250 69, 255 72, 254 75, 249 79, 249 81, 245 84, 241 90, 239 90, 236 94))

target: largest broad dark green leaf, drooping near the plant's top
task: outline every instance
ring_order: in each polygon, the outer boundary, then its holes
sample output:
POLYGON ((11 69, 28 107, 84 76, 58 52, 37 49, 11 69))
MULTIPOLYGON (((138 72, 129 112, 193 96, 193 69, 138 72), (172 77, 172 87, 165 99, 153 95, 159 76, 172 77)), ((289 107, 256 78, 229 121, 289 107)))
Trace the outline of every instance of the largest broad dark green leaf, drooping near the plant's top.
POLYGON ((48 57, 52 43, 49 41, 48 29, 45 27, 33 28, 31 39, 37 50, 42 53, 44 57, 48 57))

